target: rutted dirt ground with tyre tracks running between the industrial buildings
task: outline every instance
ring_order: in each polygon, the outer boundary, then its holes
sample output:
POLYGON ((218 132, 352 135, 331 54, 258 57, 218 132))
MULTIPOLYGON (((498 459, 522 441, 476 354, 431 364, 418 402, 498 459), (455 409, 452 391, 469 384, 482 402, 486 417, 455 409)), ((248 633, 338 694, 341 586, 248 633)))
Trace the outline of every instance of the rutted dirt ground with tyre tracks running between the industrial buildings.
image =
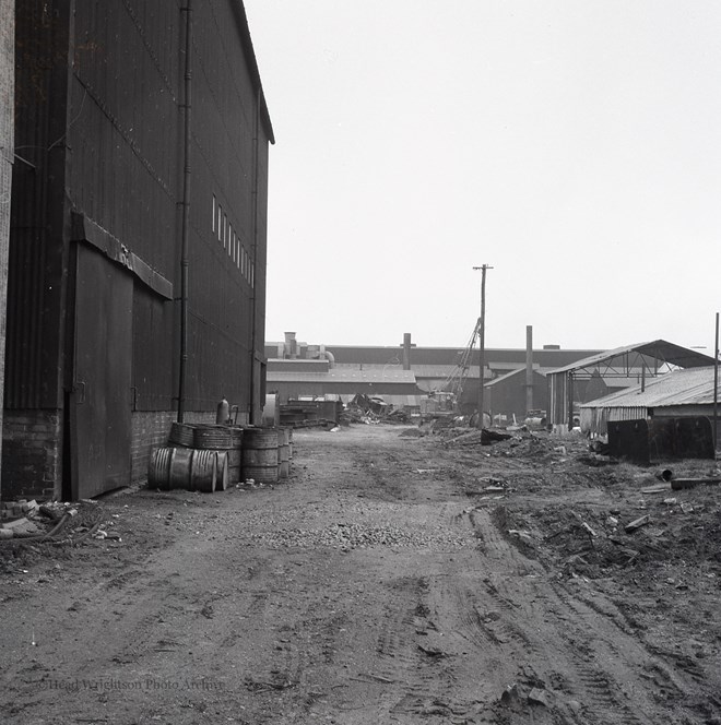
POLYGON ((120 540, 0 542, 0 721, 721 723, 718 487, 404 430, 83 507, 120 540))

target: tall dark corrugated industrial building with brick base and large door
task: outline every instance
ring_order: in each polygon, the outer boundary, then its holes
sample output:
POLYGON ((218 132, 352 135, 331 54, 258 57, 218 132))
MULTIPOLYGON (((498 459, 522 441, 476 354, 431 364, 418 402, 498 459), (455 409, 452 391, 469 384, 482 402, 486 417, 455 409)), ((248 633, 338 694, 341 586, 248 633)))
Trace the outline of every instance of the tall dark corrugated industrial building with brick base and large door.
POLYGON ((268 152, 240 0, 17 0, 2 497, 141 479, 264 399, 268 152))

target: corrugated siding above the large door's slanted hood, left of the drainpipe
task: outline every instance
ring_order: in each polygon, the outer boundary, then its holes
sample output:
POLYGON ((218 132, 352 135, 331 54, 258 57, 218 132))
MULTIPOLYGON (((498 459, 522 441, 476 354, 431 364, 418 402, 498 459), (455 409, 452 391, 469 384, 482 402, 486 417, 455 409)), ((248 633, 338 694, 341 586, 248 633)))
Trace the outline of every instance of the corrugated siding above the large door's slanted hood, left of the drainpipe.
POLYGON ((178 266, 180 3, 79 3, 70 86, 74 207, 163 276, 178 266))

